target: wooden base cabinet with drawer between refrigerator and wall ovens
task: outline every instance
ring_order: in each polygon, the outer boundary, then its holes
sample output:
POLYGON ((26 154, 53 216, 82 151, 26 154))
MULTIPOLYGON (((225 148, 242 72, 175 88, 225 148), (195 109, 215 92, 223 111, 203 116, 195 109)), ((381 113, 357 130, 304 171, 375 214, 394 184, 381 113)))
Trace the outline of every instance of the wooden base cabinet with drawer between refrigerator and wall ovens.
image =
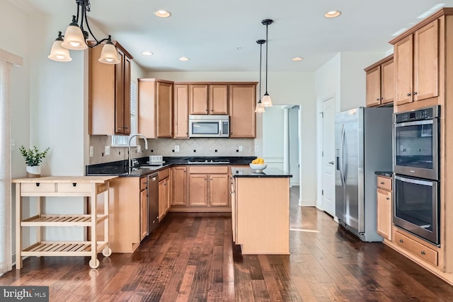
POLYGON ((377 233, 391 240, 392 232, 392 185, 391 178, 377 176, 377 233))

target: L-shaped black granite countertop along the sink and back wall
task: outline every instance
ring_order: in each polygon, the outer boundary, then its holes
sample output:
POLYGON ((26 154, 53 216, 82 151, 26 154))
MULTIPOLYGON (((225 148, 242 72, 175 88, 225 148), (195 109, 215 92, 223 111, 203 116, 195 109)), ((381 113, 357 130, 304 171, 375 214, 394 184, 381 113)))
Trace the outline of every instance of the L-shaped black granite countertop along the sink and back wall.
POLYGON ((120 177, 140 177, 164 170, 173 165, 248 165, 256 156, 186 156, 164 157, 163 164, 149 163, 149 157, 134 158, 140 168, 127 169, 127 160, 111 161, 85 166, 85 175, 117 175, 120 177), (226 163, 227 162, 227 163, 226 163))

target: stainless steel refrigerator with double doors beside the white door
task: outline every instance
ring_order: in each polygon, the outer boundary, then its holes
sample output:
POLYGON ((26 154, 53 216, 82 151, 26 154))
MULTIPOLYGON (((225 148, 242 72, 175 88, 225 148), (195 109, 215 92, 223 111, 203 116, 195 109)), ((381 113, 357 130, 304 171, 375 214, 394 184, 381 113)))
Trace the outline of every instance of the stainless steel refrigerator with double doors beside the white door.
POLYGON ((391 171, 393 108, 336 114, 335 214, 362 241, 382 241, 377 229, 375 171, 391 171))

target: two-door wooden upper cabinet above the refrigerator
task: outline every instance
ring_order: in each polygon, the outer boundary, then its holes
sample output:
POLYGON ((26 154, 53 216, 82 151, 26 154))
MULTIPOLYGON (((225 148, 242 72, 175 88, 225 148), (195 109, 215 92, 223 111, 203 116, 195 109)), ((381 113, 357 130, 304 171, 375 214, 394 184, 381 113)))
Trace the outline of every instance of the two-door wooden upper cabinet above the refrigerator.
POLYGON ((367 73, 367 107, 394 102, 394 55, 365 68, 367 73))

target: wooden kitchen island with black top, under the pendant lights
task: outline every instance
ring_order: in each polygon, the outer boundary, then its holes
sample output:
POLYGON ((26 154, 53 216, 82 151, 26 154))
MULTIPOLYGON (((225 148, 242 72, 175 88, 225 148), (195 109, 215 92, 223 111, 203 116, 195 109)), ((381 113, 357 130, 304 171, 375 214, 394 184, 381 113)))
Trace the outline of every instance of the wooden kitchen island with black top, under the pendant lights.
POLYGON ((243 255, 289 255, 289 178, 276 168, 231 168, 233 240, 243 255))

